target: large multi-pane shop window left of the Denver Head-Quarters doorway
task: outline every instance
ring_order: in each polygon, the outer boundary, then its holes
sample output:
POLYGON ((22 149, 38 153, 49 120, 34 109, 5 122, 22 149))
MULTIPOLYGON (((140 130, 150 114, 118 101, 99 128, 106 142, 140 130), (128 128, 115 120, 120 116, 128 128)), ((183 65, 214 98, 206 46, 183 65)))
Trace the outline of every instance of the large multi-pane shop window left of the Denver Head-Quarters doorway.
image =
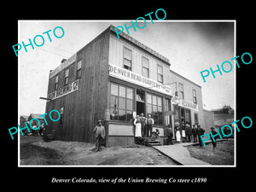
POLYGON ((110 86, 110 119, 130 121, 133 110, 133 90, 119 84, 110 86))

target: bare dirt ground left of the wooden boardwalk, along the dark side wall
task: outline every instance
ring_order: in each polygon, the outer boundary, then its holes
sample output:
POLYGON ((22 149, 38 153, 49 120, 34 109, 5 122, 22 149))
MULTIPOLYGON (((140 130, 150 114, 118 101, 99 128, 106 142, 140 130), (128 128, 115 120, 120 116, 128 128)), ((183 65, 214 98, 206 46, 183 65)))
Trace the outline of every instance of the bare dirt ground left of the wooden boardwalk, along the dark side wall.
POLYGON ((20 165, 109 165, 172 166, 177 165, 154 148, 143 145, 103 148, 79 142, 44 142, 42 137, 20 137, 20 165))

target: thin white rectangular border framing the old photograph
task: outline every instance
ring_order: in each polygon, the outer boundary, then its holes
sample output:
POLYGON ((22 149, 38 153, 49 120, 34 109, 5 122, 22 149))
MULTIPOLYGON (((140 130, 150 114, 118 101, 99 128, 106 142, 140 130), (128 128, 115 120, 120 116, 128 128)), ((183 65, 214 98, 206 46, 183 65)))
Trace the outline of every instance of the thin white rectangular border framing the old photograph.
MULTIPOLYGON (((18 20, 18 42, 20 42, 20 21, 36 21, 36 20, 18 20)), ((38 21, 53 21, 53 22, 130 22, 131 20, 38 20, 38 21)), ((135 21, 135 20, 132 20, 135 21)), ((150 21, 150 20, 147 20, 150 21)), ((154 20, 154 22, 234 22, 234 57, 236 56, 236 20, 154 20)), ((18 56, 18 125, 20 125, 20 57, 18 56)), ((236 67, 235 67, 235 89, 234 89, 234 118, 236 120, 236 67)), ((230 166, 20 166, 20 133, 18 133, 18 167, 236 167, 236 129, 235 131, 235 145, 234 145, 234 165, 230 166)))

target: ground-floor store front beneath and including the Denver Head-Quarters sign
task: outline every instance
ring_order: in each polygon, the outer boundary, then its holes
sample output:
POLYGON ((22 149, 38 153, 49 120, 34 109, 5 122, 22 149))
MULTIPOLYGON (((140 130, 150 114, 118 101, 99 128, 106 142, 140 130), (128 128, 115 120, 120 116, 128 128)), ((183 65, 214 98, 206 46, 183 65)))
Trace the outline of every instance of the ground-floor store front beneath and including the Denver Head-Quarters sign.
MULTIPOLYGON (((138 82, 135 84, 136 81, 132 82, 124 78, 125 73, 131 72, 125 69, 121 70, 115 67, 110 67, 109 70, 110 121, 108 125, 108 145, 133 144, 135 131, 132 119, 142 113, 147 118, 148 114, 151 114, 154 119, 153 131, 158 129, 159 136, 165 137, 166 126, 172 124, 171 115, 165 115, 166 111, 171 110, 172 96, 169 94, 169 87, 165 90, 157 82, 154 82, 155 86, 145 85, 143 82, 147 82, 148 79, 132 73, 137 75, 138 82), (167 94, 163 94, 163 92, 167 94)), ((153 80, 150 79, 150 81, 153 80)))

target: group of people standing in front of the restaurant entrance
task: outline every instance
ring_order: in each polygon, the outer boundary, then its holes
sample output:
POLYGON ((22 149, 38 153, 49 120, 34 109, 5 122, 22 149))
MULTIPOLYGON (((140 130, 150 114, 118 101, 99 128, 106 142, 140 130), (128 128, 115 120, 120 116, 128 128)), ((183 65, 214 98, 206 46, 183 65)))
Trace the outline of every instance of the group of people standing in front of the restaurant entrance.
POLYGON ((176 123, 174 131, 177 142, 193 142, 199 143, 201 147, 203 146, 201 142, 201 135, 205 133, 205 130, 201 128, 201 125, 195 124, 191 128, 189 124, 182 124, 182 126, 180 126, 179 123, 176 123))

